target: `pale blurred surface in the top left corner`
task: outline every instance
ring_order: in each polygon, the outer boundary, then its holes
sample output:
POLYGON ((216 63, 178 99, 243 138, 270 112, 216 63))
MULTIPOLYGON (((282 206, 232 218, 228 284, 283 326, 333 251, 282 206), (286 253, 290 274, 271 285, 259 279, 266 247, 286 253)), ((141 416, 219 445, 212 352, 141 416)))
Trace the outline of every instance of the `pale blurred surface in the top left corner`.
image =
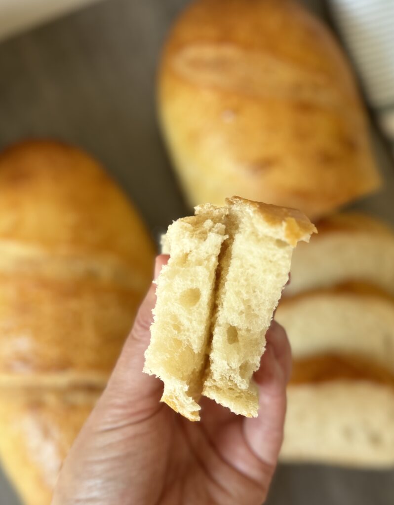
POLYGON ((0 0, 0 39, 98 0, 0 0))

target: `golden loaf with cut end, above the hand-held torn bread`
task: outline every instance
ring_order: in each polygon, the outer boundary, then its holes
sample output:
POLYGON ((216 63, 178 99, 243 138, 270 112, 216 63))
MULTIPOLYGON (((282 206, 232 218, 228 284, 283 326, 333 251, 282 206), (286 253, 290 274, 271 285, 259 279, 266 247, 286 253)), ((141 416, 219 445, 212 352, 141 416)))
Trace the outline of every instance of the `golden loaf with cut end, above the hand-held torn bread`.
POLYGON ((379 186, 349 65, 291 0, 193 2, 169 34, 158 105, 191 205, 236 193, 315 218, 379 186))

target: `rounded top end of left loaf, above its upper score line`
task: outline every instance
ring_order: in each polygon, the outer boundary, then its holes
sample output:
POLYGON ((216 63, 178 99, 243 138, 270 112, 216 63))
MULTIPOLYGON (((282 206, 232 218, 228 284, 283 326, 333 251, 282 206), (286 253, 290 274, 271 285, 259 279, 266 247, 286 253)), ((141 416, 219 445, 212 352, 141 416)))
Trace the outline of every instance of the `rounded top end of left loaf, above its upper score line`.
POLYGON ((0 240, 114 257, 150 273, 153 245, 141 218, 80 149, 50 140, 9 147, 0 154, 0 195, 0 240))

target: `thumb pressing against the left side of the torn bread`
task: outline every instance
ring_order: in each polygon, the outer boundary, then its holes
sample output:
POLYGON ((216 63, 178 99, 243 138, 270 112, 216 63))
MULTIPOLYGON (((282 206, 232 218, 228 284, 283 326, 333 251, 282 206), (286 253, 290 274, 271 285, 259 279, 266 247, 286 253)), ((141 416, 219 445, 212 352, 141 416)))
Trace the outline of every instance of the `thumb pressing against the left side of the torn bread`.
MULTIPOLYGON (((167 261, 165 255, 156 258, 155 278, 167 261)), ((152 310, 156 303, 155 291, 156 285, 152 283, 101 399, 106 405, 110 402, 112 407, 117 407, 116 410, 126 414, 129 420, 138 417, 135 421, 140 421, 155 412, 163 392, 162 382, 143 372, 144 353, 150 342, 152 310)))

